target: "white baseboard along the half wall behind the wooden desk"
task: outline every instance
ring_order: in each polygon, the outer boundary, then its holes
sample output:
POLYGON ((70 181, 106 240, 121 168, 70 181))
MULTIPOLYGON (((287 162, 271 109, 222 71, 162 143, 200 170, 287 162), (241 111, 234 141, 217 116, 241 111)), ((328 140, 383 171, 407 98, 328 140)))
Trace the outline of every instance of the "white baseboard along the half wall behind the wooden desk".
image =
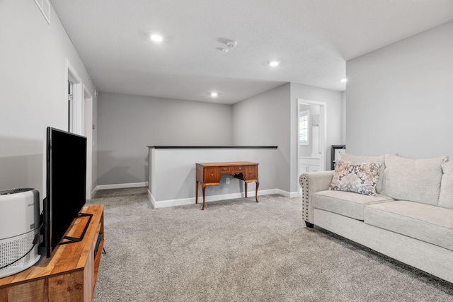
MULTIPOLYGON (((278 190, 278 189, 258 190, 258 196, 270 195, 270 194, 280 194, 280 195, 287 196, 287 197, 289 197, 289 195, 290 195, 289 192, 285 192, 285 191, 278 190)), ((151 206, 156 209, 165 208, 165 207, 183 206, 185 204, 195 204, 195 197, 156 201, 156 199, 154 199, 153 194, 151 194, 151 192, 149 192, 149 190, 148 190, 148 195, 149 195, 149 201, 151 203, 151 206)), ((210 196, 205 197, 205 202, 217 202, 219 200, 225 200, 225 199, 242 198, 243 196, 244 196, 244 194, 239 193, 239 192, 231 193, 231 194, 210 195, 210 196)), ((255 191, 249 191, 247 193, 247 196, 254 197, 255 191)), ((202 203, 203 203, 203 197, 198 197, 198 204, 202 204, 202 203)))

